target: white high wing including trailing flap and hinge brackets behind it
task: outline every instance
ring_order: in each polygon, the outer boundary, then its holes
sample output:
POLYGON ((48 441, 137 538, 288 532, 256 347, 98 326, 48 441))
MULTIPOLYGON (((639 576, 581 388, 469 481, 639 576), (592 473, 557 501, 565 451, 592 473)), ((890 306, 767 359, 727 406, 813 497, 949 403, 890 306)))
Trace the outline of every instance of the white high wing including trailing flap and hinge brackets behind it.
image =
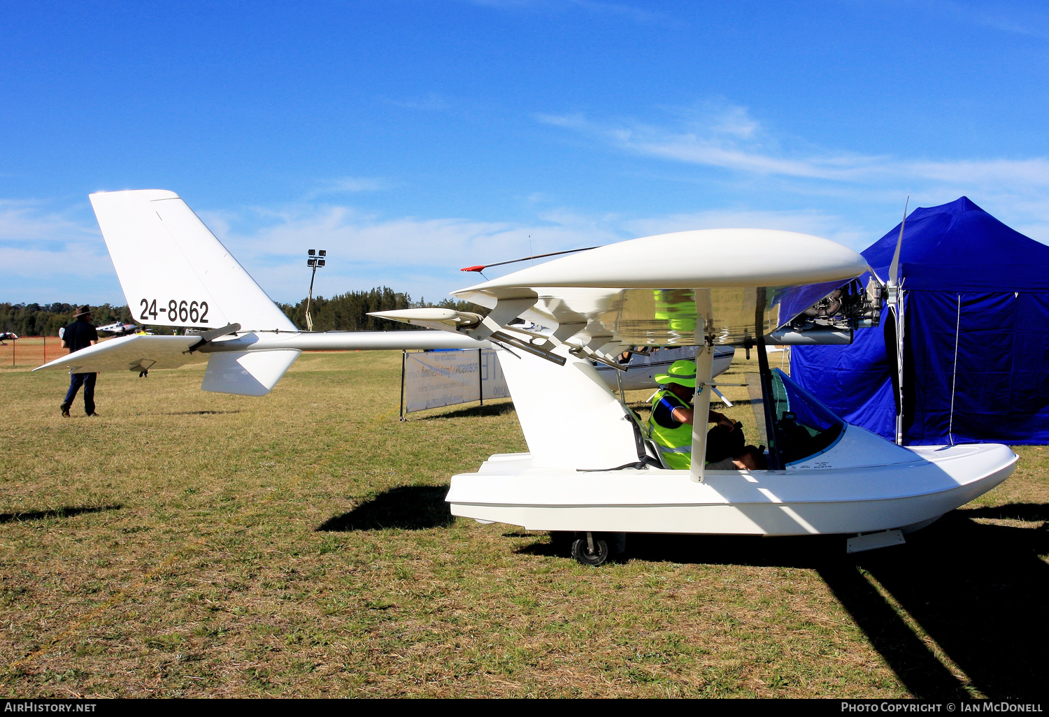
MULTIPOLYGON (((453 291, 492 309, 487 318, 445 309, 376 316, 506 343, 560 363, 554 349, 613 363, 627 346, 850 343, 856 319, 876 306, 855 280, 856 252, 819 237, 773 230, 700 230, 609 244, 453 291), (847 287, 848 296, 841 291, 847 287), (838 297, 816 306, 829 295, 838 297), (848 301, 847 301, 848 300, 848 301), (850 318, 807 332, 799 317, 850 318), (517 319, 542 330, 522 329, 517 319)), ((880 295, 879 295, 880 296, 880 295)), ((808 319, 807 319, 808 320, 808 319)), ((862 324, 859 324, 862 325, 862 324)))

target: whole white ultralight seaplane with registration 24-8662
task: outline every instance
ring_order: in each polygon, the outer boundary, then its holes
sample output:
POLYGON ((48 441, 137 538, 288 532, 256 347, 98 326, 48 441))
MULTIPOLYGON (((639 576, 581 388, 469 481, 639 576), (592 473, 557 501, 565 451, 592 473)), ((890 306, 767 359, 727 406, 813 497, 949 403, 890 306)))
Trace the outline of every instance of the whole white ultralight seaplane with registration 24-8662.
MULTIPOLYGON (((604 562, 629 533, 842 534, 853 536, 851 551, 896 544, 1001 483, 1016 461, 998 444, 897 446, 769 368, 766 344, 849 343, 854 329, 877 324, 882 287, 856 281, 865 261, 818 237, 727 229, 634 239, 452 292, 490 308, 487 317, 405 309, 378 316, 433 330, 311 333, 176 194, 90 199, 134 317, 186 335, 112 339, 37 370, 207 361, 201 389, 258 396, 303 350, 494 347, 529 452, 453 476, 446 500, 456 516, 572 534, 584 563, 604 562), (714 348, 756 350, 768 470, 662 466, 595 363, 616 367, 627 348, 668 346, 695 347, 699 416, 714 348)), ((701 421, 692 455, 704 456, 705 443, 701 421)))

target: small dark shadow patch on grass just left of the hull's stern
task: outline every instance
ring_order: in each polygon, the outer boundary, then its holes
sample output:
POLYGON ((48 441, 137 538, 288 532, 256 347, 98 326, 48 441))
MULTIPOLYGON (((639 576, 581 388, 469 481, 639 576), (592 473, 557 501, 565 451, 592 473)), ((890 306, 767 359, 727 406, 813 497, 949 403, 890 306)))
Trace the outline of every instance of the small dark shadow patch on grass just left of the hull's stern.
POLYGON ((318 530, 423 530, 446 527, 455 521, 445 496, 448 485, 402 485, 381 493, 349 513, 329 519, 318 530))

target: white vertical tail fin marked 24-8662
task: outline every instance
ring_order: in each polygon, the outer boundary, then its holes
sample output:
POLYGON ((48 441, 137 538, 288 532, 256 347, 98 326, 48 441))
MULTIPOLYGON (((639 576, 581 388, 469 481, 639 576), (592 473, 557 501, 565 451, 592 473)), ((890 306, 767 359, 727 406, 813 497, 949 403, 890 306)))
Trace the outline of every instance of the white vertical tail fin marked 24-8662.
POLYGON ((297 330, 174 192, 99 192, 90 199, 136 321, 297 330))

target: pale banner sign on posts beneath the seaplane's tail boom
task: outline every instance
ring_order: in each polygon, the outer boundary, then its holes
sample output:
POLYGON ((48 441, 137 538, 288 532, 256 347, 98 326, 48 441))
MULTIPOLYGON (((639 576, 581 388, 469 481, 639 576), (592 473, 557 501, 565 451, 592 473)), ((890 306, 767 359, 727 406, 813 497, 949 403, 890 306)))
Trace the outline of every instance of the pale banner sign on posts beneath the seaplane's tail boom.
POLYGON ((404 412, 509 398, 493 349, 455 349, 404 354, 404 412))

